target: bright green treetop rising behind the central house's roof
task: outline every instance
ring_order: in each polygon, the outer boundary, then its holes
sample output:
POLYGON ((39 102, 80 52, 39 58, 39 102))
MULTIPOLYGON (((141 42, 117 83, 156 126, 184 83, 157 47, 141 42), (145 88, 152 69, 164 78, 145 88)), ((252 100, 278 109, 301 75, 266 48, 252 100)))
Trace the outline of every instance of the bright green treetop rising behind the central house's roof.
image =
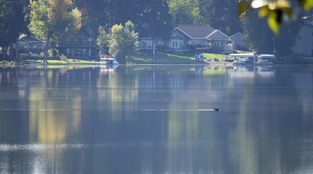
POLYGON ((174 25, 201 24, 203 22, 198 0, 172 0, 168 6, 174 25))

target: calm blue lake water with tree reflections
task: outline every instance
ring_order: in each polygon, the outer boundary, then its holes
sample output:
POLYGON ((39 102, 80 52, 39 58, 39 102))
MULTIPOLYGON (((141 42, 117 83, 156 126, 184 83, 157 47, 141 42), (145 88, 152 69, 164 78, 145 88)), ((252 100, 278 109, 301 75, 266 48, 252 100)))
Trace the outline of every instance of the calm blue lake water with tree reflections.
POLYGON ((0 173, 313 173, 313 66, 0 66, 0 173))

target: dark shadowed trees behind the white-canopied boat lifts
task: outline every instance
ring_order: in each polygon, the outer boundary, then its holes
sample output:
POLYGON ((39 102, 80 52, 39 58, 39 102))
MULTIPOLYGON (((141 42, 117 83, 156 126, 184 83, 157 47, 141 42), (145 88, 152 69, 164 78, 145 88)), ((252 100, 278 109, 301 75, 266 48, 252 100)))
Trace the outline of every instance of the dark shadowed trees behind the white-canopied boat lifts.
POLYGON ((247 10, 241 17, 245 37, 244 44, 256 54, 274 54, 277 57, 290 55, 301 27, 300 21, 286 23, 280 35, 275 35, 267 27, 266 19, 258 18, 255 10, 247 10))

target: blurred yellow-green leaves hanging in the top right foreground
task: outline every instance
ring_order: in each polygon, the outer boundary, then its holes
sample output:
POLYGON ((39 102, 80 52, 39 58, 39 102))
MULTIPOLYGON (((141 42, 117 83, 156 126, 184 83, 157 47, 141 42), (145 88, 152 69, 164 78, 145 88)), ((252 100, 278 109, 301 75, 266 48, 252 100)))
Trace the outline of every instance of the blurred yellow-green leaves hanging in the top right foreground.
MULTIPOLYGON (((307 11, 313 7, 312 0, 298 0, 298 2, 301 3, 303 8, 307 11)), ((249 6, 252 8, 259 8, 258 16, 260 18, 265 16, 268 17, 267 24, 276 35, 279 33, 284 16, 295 18, 290 0, 253 0, 251 3, 248 3, 248 1, 242 1, 239 4, 239 15, 249 10, 249 6)))

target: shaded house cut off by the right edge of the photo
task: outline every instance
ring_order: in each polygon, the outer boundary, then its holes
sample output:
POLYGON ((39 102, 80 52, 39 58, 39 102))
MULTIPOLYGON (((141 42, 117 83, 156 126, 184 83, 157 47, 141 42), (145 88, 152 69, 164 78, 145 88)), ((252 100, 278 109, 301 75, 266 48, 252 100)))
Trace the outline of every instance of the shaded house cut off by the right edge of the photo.
POLYGON ((303 25, 300 28, 295 46, 292 48, 294 53, 302 56, 313 56, 313 16, 302 18, 303 25))

